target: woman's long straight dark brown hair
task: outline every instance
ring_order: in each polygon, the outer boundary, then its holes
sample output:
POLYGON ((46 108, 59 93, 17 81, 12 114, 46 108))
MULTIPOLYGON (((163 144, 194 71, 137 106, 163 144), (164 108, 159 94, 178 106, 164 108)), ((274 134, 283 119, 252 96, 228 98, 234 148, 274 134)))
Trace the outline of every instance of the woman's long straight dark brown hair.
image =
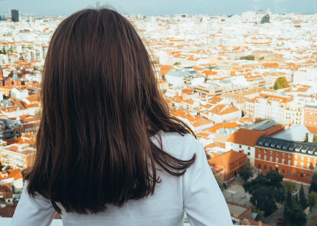
POLYGON ((183 175, 177 159, 150 138, 189 133, 170 116, 149 55, 133 25, 107 8, 63 20, 49 45, 30 195, 61 212, 97 213, 154 192, 157 170, 183 175))

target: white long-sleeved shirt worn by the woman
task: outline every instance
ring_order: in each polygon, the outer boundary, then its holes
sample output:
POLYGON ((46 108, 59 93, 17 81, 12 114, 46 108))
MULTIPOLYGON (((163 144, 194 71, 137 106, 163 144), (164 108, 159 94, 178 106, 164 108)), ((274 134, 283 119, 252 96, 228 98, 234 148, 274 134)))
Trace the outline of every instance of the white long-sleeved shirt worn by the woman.
MULTIPOLYGON (((187 213, 191 226, 232 225, 227 204, 208 165, 202 144, 189 134, 181 136, 160 132, 156 136, 159 135, 163 149, 179 159, 188 160, 196 153, 195 162, 183 176, 175 177, 157 171, 162 182, 157 183, 153 196, 131 200, 121 208, 109 205, 98 214, 62 212, 63 225, 181 226, 183 211, 187 213)), ((155 142, 154 139, 152 141, 155 142)), ((11 225, 50 225, 55 215, 51 202, 40 195, 35 198, 29 196, 26 184, 11 225)))

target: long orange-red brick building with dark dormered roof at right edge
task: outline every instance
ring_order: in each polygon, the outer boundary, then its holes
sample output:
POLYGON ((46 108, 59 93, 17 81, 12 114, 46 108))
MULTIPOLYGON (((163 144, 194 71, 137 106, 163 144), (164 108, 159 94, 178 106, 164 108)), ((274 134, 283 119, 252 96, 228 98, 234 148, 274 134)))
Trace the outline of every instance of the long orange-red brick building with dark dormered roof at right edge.
POLYGON ((255 167, 264 174, 275 170, 286 179, 311 183, 317 144, 261 136, 255 144, 255 167))

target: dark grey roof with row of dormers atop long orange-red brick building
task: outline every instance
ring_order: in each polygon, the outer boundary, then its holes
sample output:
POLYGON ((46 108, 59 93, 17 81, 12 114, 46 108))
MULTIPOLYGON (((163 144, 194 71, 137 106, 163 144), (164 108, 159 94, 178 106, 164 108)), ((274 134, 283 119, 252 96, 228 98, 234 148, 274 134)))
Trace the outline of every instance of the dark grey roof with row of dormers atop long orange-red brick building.
POLYGON ((308 156, 317 156, 317 144, 308 142, 295 142, 261 136, 256 142, 255 146, 291 153, 301 153, 308 156))

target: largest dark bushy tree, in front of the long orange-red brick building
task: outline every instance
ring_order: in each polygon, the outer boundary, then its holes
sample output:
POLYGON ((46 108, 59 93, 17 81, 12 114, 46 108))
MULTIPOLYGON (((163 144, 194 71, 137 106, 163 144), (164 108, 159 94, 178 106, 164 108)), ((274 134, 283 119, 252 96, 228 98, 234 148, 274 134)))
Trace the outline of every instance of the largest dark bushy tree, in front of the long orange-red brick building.
POLYGON ((243 187, 250 193, 252 205, 268 216, 276 209, 275 202, 284 202, 285 189, 281 184, 282 180, 282 175, 276 171, 270 171, 265 176, 258 174, 255 179, 244 183, 243 187))

